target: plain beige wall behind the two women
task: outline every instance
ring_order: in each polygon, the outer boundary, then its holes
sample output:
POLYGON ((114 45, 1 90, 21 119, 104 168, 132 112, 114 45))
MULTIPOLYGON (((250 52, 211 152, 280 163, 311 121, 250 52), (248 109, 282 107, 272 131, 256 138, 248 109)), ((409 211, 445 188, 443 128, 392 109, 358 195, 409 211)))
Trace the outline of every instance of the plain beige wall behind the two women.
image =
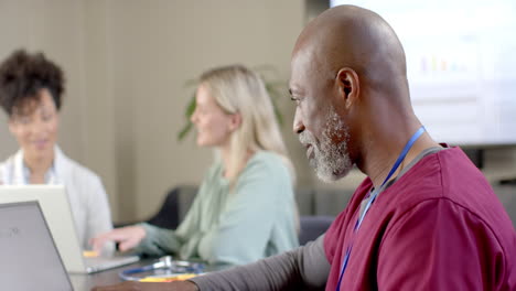
MULTIPOLYGON (((184 83, 234 63, 270 64, 287 80, 303 15, 297 0, 3 0, 0 58, 25 47, 64 68, 61 147, 103 177, 115 219, 144 218, 173 185, 198 183, 212 160, 193 134, 176 141, 193 93, 184 83)), ((284 130, 299 149, 287 99, 284 130)), ((0 157, 7 157, 17 143, 1 118, 0 157)))

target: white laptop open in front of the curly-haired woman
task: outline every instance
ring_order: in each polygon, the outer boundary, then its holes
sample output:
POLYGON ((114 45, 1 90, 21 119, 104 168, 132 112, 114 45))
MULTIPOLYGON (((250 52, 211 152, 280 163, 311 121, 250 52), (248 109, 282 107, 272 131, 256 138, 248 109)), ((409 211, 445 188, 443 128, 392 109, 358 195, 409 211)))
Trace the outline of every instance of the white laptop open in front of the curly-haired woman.
POLYGON ((129 265, 139 260, 138 256, 85 258, 64 186, 0 186, 0 203, 25 201, 37 201, 40 203, 55 245, 68 272, 93 273, 129 265))

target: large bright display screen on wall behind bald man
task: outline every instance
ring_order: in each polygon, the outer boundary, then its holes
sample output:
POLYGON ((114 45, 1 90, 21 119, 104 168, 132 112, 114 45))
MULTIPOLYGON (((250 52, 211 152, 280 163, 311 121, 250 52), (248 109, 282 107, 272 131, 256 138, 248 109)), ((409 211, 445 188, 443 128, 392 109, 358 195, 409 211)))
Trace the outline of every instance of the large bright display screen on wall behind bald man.
POLYGON ((394 28, 416 114, 437 141, 516 144, 516 1, 330 3, 338 4, 370 9, 394 28))

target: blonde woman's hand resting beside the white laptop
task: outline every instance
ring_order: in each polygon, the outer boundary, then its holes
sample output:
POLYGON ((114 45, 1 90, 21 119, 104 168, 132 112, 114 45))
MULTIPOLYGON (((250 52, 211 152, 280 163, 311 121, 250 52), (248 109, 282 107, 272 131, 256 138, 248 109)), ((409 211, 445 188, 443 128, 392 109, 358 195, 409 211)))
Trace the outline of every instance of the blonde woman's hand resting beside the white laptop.
POLYGON ((119 244, 120 251, 126 251, 138 246, 146 235, 146 229, 142 226, 126 226, 94 237, 89 244, 95 251, 99 252, 107 241, 115 241, 119 244))

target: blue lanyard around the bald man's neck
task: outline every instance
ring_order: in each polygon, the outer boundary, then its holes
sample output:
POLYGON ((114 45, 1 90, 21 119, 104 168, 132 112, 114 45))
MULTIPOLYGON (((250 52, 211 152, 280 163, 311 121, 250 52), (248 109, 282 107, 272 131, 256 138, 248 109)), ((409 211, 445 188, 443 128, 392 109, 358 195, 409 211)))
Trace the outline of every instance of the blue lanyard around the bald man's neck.
MULTIPOLYGON (((378 193, 380 192, 381 187, 385 185, 385 183, 387 183, 387 181, 390 180, 390 177, 393 176, 393 174, 396 172, 396 170, 398 170, 399 165, 401 164, 401 162, 405 160, 405 157, 407 155, 408 151, 410 150, 410 148, 412 148, 413 143, 419 139, 419 137, 421 137, 421 134, 424 132, 424 127, 421 126, 418 131, 416 131, 416 133, 413 133, 413 136, 410 138, 410 140, 407 142, 407 144, 405 144, 405 148, 404 150, 401 151, 401 153, 399 154, 398 159, 396 160, 395 164, 393 165, 393 169, 390 169, 390 172, 389 174, 387 175, 387 177, 384 180, 384 183, 381 183, 381 185, 378 187, 378 188, 375 188, 375 191, 373 191, 373 194, 370 194, 370 198, 369 201, 367 202, 367 205, 364 209, 364 212, 362 213, 362 215, 357 218, 356 220, 356 224, 355 224, 355 228, 354 228, 354 231, 356 233, 358 230, 358 228, 361 227, 362 225, 362 222, 364 220, 364 217, 365 215, 367 214, 367 212, 369 211, 370 208, 370 205, 373 204, 373 202, 375 202, 376 197, 378 196, 378 193)), ((352 251, 352 248, 353 248, 353 241, 350 244, 350 246, 347 247, 346 249, 346 256, 344 257, 344 260, 342 261, 342 270, 341 270, 341 276, 338 276, 338 282, 337 282, 337 285, 336 285, 336 291, 338 291, 341 289, 341 282, 342 282, 342 278, 344 277, 344 271, 346 270, 347 268, 347 261, 350 260, 350 255, 351 255, 351 251, 352 251)))

